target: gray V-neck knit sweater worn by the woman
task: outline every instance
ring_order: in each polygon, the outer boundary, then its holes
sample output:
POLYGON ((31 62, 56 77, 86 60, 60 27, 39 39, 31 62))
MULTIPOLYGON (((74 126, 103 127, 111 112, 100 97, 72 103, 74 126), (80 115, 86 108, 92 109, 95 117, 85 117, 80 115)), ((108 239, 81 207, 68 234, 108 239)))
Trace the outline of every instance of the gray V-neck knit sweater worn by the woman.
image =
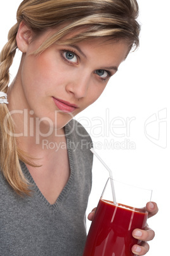
POLYGON ((91 191, 91 138, 79 123, 65 126, 70 178, 56 203, 42 196, 29 170, 32 196, 18 196, 0 174, 0 255, 81 256, 86 241, 85 212, 91 191), (76 148, 76 149, 75 149, 76 148))

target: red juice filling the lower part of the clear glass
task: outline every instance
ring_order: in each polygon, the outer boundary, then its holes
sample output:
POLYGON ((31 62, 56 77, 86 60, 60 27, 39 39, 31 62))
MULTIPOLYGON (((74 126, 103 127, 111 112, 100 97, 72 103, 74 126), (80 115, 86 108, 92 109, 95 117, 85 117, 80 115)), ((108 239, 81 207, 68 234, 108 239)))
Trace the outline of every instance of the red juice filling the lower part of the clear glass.
POLYGON ((133 256, 131 248, 138 240, 132 231, 146 224, 145 211, 100 199, 83 256, 133 256))

